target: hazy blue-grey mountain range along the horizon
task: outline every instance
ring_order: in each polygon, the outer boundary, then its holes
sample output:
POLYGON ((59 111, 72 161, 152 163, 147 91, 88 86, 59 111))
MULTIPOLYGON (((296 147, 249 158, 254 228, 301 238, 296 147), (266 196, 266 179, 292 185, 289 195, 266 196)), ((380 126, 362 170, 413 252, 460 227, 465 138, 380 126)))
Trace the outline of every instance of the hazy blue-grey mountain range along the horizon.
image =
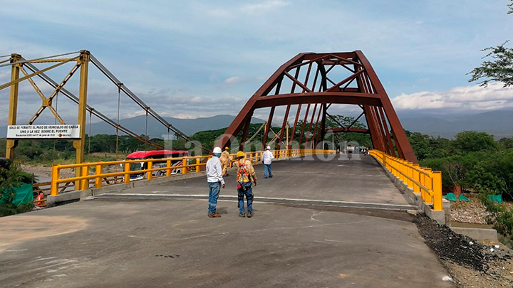
MULTIPOLYGON (((421 132, 432 137, 452 138, 458 132, 475 130, 493 134, 495 139, 513 137, 513 110, 497 110, 478 114, 463 114, 457 116, 432 116, 430 114, 418 114, 412 117, 411 114, 402 115, 399 119, 404 129, 411 132, 421 132)), ((165 117, 167 122, 180 129, 187 135, 199 131, 214 130, 228 127, 235 117, 232 115, 217 115, 197 119, 180 119, 165 117)), ((252 118, 252 123, 263 123, 263 119, 252 118)), ((120 124, 137 134, 146 134, 146 117, 137 116, 120 120, 120 124)), ((6 137, 6 127, 0 126, 0 137, 6 137)), ((89 127, 86 133, 89 132, 89 127)), ((105 122, 97 122, 91 125, 91 134, 115 134, 115 128, 105 122)), ((151 137, 167 138, 167 129, 162 127, 157 120, 148 118, 147 134, 151 137)), ((172 135, 172 133, 171 133, 172 135)))

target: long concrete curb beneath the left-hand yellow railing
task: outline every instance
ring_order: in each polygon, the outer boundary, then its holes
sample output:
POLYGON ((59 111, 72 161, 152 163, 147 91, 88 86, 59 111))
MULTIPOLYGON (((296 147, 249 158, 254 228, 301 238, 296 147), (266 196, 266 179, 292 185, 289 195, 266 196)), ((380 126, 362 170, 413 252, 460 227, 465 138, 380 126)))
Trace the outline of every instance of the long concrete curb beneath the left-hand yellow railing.
MULTIPOLYGON (((276 159, 276 160, 274 160, 274 162, 285 161, 285 160, 290 160, 290 159, 299 158, 299 157, 301 157, 301 156, 276 159)), ((254 166, 261 165, 261 162, 254 162, 253 165, 254 166)), ((232 173, 232 171, 237 171, 237 168, 230 167, 229 169, 227 169, 227 171, 232 173)), ((82 190, 82 191, 71 191, 71 192, 62 193, 58 196, 48 195, 48 197, 46 199, 46 205, 48 207, 52 207, 52 206, 56 206, 58 203, 80 201, 84 198, 88 198, 91 196, 98 196, 98 195, 105 194, 105 193, 113 193, 113 192, 118 192, 118 191, 122 191, 122 190, 126 190, 126 189, 131 189, 131 188, 140 188, 140 187, 151 186, 151 185, 155 185, 155 184, 168 183, 168 182, 172 182, 172 181, 180 181, 180 180, 185 180, 185 179, 190 179, 190 178, 204 177, 206 175, 207 174, 205 171, 201 171, 198 173, 192 172, 189 174, 173 175, 170 177, 164 176, 164 177, 159 177, 159 178, 153 178, 152 180, 134 181, 134 182, 131 182, 128 184, 119 183, 119 184, 113 184, 113 185, 109 185, 109 186, 103 186, 102 188, 89 188, 87 190, 82 190)))

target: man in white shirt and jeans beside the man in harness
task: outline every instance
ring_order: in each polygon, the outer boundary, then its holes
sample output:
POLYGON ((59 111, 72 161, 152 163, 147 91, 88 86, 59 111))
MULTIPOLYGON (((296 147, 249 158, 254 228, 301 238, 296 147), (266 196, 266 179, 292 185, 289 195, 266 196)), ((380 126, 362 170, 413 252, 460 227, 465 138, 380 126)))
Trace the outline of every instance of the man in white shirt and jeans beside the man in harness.
POLYGON ((209 183, 209 218, 219 218, 221 215, 216 212, 217 198, 221 187, 224 188, 224 179, 222 178, 222 166, 219 161, 221 148, 215 147, 212 158, 207 161, 207 182, 209 183))

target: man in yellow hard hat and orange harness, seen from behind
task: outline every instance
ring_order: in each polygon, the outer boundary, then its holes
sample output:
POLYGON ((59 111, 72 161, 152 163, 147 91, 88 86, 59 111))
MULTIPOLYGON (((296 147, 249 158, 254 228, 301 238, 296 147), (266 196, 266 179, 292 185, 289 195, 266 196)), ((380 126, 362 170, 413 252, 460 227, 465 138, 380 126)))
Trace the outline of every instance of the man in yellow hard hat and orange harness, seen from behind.
POLYGON ((237 152, 237 166, 239 170, 237 171, 237 193, 239 200, 239 216, 240 217, 253 217, 253 188, 257 186, 257 174, 253 169, 253 165, 251 161, 244 159, 244 152, 237 152), (246 196, 247 200, 247 214, 244 213, 244 196, 246 196))

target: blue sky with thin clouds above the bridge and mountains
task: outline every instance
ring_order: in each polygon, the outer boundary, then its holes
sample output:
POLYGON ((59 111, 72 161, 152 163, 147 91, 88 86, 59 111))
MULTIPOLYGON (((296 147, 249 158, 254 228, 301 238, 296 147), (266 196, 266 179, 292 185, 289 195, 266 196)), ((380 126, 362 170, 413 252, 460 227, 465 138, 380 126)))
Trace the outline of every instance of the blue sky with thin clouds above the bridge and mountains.
MULTIPOLYGON (((399 112, 513 109, 512 87, 485 89, 466 75, 482 62, 480 49, 513 38, 508 3, 0 0, 0 56, 90 50, 156 112, 195 118, 237 114, 297 53, 362 50, 399 112)), ((71 67, 50 75, 60 82, 71 67)), ((9 67, 0 68, 0 84, 9 77, 9 67)), ((76 92, 73 85, 66 87, 76 92)), ((89 105, 116 117, 117 88, 93 67, 88 89, 89 105)), ((20 90, 19 119, 28 119, 41 100, 28 82, 20 90)), ((0 125, 6 124, 8 101, 9 90, 0 90, 0 125)), ((76 121, 76 106, 64 97, 58 110, 66 122, 76 121)), ((142 113, 121 98, 121 118, 142 113)), ((39 123, 53 119, 45 112, 39 123)))

